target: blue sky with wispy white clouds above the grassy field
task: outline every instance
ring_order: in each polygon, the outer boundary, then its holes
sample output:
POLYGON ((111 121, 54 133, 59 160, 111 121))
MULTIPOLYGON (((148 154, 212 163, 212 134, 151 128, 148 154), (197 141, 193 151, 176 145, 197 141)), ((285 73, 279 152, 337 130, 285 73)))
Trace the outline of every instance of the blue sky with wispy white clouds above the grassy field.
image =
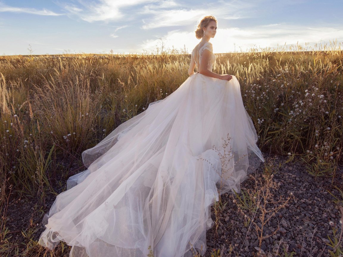
POLYGON ((0 0, 0 55, 186 49, 205 15, 214 53, 341 48, 342 0, 0 0))

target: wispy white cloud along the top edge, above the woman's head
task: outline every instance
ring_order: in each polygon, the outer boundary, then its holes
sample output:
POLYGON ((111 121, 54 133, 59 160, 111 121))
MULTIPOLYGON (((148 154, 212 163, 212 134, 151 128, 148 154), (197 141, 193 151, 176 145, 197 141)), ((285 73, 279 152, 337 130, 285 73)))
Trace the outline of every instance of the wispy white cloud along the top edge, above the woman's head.
POLYGON ((62 5, 62 8, 87 22, 122 21, 124 18, 125 21, 130 21, 137 20, 138 15, 147 16, 147 19, 143 20, 143 23, 145 23, 143 29, 190 25, 194 23, 194 20, 208 14, 215 14, 216 17, 221 19, 242 19, 251 17, 248 9, 253 9, 254 6, 259 4, 259 1, 246 3, 241 0, 231 2, 219 0, 197 5, 180 4, 174 0, 77 1, 80 4, 79 6, 66 3, 62 5), (135 9, 137 7, 139 7, 139 10, 135 9))

